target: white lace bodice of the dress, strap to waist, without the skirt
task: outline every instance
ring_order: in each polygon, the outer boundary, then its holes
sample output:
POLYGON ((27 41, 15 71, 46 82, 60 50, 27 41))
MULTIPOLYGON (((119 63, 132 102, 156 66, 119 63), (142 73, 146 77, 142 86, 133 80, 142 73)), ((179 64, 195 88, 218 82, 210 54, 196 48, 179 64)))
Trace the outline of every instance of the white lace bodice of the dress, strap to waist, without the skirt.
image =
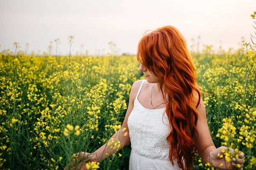
POLYGON ((140 156, 169 161, 169 142, 166 138, 170 127, 164 112, 166 108, 148 109, 140 104, 138 96, 144 82, 145 80, 140 85, 134 99, 134 108, 128 117, 131 147, 140 156))

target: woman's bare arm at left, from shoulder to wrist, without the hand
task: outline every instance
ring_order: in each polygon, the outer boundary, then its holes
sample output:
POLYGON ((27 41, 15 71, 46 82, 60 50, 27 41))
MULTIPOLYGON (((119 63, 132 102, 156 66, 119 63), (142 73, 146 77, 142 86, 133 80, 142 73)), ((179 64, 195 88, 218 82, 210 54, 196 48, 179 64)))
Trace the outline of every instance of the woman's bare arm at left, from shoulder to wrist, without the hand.
POLYGON ((125 114, 124 122, 122 123, 122 127, 118 131, 116 131, 116 133, 113 134, 113 136, 111 137, 111 139, 108 140, 107 143, 105 143, 102 147, 100 147, 95 152, 91 153, 90 161, 99 162, 107 158, 108 156, 111 156, 113 153, 115 153, 115 149, 111 148, 111 146, 114 147, 114 144, 116 143, 117 139, 120 141, 120 147, 118 148, 118 151, 122 150, 122 148, 125 147, 130 142, 130 135, 129 135, 129 129, 127 125, 127 120, 131 114, 131 111, 134 108, 134 99, 137 95, 136 92, 139 89, 140 83, 141 83, 141 80, 137 80, 136 82, 134 82, 134 84, 131 87, 129 105, 125 114), (113 138, 113 142, 112 142, 112 138, 113 138), (111 142, 112 144, 109 146, 108 143, 111 143, 111 142))

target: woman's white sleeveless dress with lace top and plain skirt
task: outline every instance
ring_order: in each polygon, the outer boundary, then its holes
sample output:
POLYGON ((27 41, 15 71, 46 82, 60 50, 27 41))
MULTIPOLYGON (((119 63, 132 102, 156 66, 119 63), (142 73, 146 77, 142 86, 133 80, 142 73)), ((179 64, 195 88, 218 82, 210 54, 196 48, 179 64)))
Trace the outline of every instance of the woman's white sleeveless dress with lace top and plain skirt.
POLYGON ((148 109, 138 100, 145 81, 140 85, 134 108, 127 120, 131 139, 129 170, 181 170, 177 159, 173 159, 174 166, 169 161, 169 142, 166 137, 170 127, 164 112, 166 108, 148 109))

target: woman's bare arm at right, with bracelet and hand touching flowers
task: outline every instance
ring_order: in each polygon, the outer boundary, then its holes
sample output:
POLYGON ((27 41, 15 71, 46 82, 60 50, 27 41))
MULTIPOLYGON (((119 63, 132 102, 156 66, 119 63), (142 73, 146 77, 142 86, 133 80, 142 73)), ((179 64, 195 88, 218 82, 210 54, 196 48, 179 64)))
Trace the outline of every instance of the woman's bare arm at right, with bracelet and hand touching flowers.
MULTIPOLYGON (((196 99, 198 101, 198 95, 196 95, 196 99)), ((195 101, 195 105, 197 104, 197 101, 195 101)), ((232 170, 232 162, 227 162, 224 160, 224 156, 222 155, 222 150, 227 150, 227 147, 221 146, 216 148, 214 143, 212 142, 212 137, 209 132, 209 127, 207 124, 207 116, 206 116, 206 110, 204 106, 203 99, 200 99, 200 104, 198 106, 198 123, 197 123, 197 130, 198 134, 195 133, 193 136, 193 140, 195 141, 197 138, 198 140, 195 142, 197 151, 199 156, 201 157, 202 161, 207 164, 208 162, 208 156, 209 153, 212 152, 209 156, 209 163, 212 164, 214 167, 218 167, 220 169, 227 169, 227 170, 232 170), (222 158, 221 158, 222 157, 222 158)), ((190 126, 191 128, 191 126, 190 126)), ((234 152, 232 148, 229 148, 231 151, 234 152)), ((240 164, 240 167, 243 167, 244 165, 244 153, 240 153, 240 158, 236 158, 237 164, 240 164)), ((242 168, 241 168, 242 170, 242 168)))

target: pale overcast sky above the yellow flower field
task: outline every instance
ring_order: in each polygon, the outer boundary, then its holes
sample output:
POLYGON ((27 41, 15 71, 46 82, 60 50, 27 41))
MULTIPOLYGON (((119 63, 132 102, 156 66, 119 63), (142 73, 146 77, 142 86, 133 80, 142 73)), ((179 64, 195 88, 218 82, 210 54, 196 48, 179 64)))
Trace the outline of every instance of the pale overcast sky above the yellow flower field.
POLYGON ((136 54, 145 31, 166 25, 175 26, 189 47, 201 36, 200 49, 237 49, 241 37, 249 42, 253 34, 253 11, 256 0, 0 0, 0 51, 14 51, 13 42, 20 42, 20 49, 29 43, 28 52, 42 53, 60 38, 59 54, 67 55, 72 35, 73 54, 106 54, 110 41, 119 54, 136 54))

